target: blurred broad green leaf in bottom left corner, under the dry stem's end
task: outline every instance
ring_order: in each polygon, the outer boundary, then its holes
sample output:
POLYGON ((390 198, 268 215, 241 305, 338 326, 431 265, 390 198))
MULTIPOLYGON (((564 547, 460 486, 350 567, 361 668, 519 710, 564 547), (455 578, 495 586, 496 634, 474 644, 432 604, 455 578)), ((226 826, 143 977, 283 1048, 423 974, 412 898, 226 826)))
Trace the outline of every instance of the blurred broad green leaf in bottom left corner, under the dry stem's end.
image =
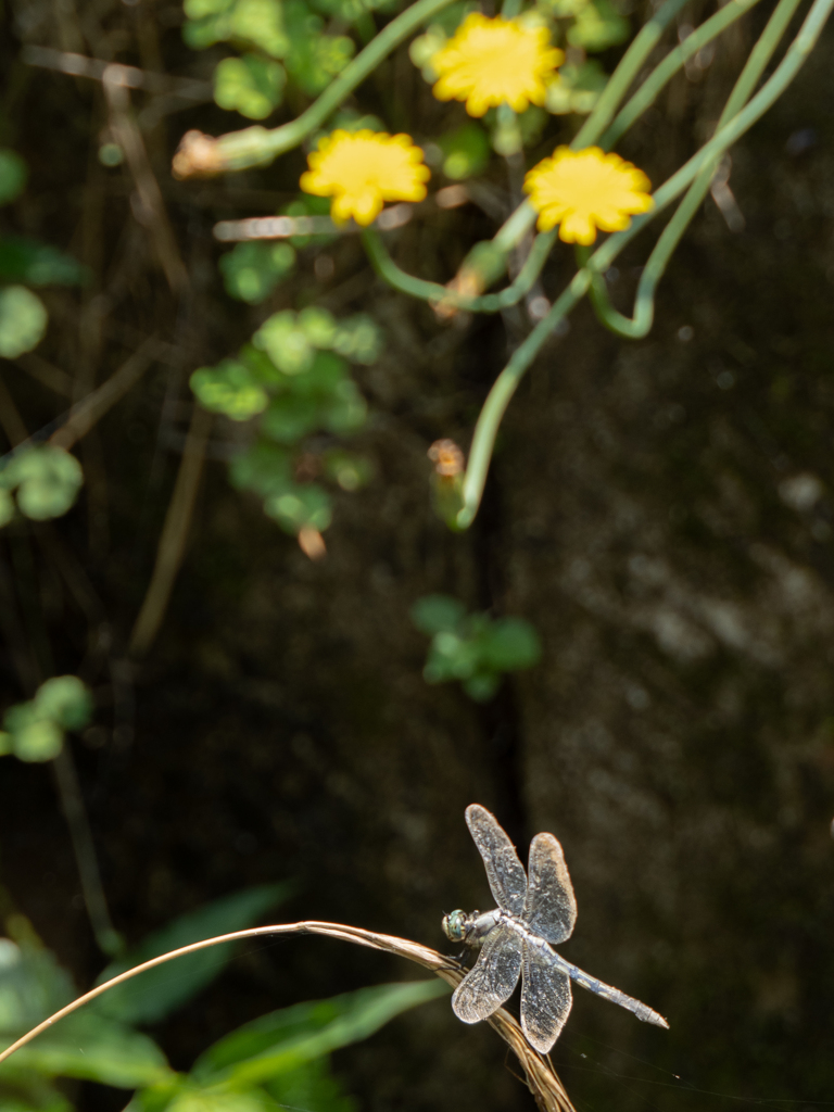
POLYGON ((79 1078, 117 1089, 153 1084, 171 1072, 152 1039, 93 1009, 61 1020, 19 1050, 14 1062, 47 1076, 79 1078))

